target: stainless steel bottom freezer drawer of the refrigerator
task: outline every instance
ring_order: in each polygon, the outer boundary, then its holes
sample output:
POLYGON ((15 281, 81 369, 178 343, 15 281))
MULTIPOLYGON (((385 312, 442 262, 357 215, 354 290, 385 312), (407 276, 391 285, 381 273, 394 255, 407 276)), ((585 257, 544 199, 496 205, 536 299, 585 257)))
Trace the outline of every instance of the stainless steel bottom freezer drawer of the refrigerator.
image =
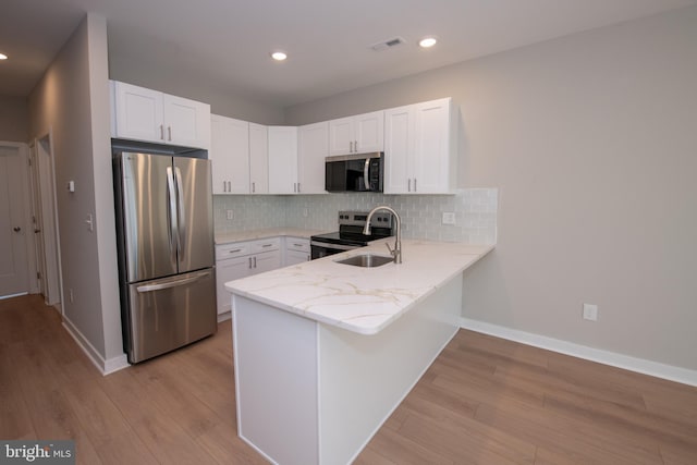
POLYGON ((126 353, 132 364, 216 332, 216 272, 206 269, 129 285, 126 353))

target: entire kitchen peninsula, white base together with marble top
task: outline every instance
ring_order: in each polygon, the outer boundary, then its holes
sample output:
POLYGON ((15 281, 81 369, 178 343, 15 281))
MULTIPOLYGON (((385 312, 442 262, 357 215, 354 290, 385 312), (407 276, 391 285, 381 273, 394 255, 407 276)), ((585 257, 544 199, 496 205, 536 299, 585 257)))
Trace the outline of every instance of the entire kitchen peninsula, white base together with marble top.
POLYGON ((386 241, 232 281, 241 438, 281 464, 346 464, 455 334, 463 271, 493 249, 386 241))

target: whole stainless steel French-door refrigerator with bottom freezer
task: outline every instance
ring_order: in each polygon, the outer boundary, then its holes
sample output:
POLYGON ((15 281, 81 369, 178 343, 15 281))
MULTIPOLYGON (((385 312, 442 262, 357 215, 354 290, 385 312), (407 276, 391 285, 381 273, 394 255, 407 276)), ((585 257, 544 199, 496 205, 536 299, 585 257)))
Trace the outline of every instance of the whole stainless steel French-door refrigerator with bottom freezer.
POLYGON ((113 160, 124 350, 135 364, 216 332, 210 161, 113 160))

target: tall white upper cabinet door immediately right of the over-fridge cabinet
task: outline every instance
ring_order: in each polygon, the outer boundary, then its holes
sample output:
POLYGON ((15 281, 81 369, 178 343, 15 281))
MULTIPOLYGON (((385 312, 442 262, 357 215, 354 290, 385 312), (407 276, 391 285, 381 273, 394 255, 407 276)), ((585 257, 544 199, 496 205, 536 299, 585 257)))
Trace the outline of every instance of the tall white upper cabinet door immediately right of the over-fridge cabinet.
POLYGON ((249 123, 212 114, 208 159, 213 194, 248 194, 249 123))

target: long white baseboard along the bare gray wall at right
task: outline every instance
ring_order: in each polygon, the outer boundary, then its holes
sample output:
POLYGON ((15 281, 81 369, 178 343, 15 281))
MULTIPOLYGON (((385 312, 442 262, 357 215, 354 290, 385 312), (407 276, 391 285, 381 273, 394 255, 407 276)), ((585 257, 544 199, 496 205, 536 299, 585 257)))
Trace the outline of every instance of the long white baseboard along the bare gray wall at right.
POLYGON ((672 365, 659 364, 657 362, 635 358, 627 355, 617 354, 615 352, 592 348, 586 345, 574 344, 572 342, 559 339, 547 338, 539 334, 533 334, 516 329, 511 329, 498 325, 491 325, 484 321, 462 318, 460 327, 485 334, 494 335, 497 338, 519 342, 535 347, 546 348, 560 354, 571 355, 603 365, 610 365, 626 370, 653 376, 657 378, 668 379, 670 381, 681 382, 697 387, 697 371, 687 368, 675 367, 672 365))

